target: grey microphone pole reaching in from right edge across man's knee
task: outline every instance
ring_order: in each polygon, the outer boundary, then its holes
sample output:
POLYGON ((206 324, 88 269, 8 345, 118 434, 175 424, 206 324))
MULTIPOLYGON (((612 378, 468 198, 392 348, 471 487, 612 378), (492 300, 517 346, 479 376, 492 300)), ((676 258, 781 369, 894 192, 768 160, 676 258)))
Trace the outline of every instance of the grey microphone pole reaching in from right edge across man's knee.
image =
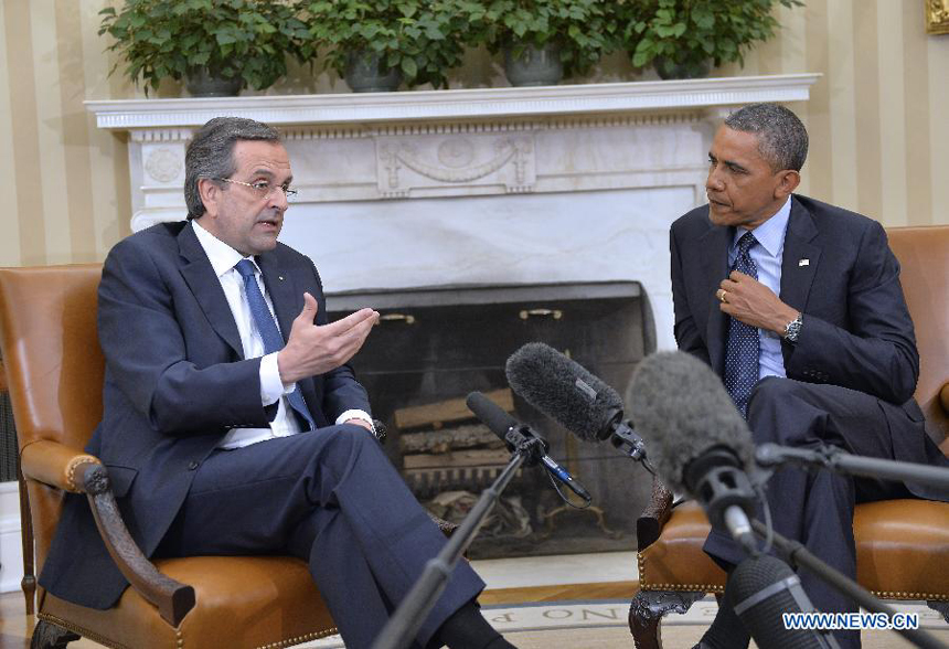
POLYGON ((755 450, 755 461, 761 467, 795 465, 822 467, 852 476, 866 476, 899 482, 920 482, 949 493, 949 469, 899 460, 851 455, 836 446, 815 449, 790 448, 777 444, 763 444, 755 450))

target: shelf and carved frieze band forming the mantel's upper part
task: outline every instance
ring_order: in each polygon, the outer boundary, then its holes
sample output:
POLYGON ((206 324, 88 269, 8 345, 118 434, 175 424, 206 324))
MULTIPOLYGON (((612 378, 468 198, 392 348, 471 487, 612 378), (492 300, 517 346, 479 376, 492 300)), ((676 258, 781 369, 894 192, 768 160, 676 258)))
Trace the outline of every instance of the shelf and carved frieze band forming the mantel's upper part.
POLYGON ((586 191, 642 187, 647 170, 664 174, 661 184, 682 183, 683 174, 695 171, 662 156, 610 156, 608 164, 586 164, 603 158, 595 150, 603 142, 641 148, 644 142, 630 137, 636 130, 689 131, 721 118, 729 106, 807 99, 818 77, 86 102, 86 107, 99 127, 130 134, 132 227, 140 230, 183 216, 183 198, 173 190, 184 180, 186 143, 195 128, 220 115, 252 117, 284 131, 303 202, 586 191), (577 137, 580 132, 591 137, 577 137), (559 166, 557 134, 571 147, 559 166), (540 168, 539 156, 544 157, 540 168), (573 157, 583 162, 567 160, 573 157))

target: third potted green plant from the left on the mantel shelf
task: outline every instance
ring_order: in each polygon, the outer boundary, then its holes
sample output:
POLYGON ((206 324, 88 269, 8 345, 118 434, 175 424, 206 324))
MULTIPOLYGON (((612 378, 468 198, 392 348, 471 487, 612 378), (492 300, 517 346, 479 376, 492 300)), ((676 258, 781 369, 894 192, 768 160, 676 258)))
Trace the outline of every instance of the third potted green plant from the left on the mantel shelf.
POLYGON ((555 84, 608 53, 616 32, 611 0, 490 0, 472 10, 469 42, 503 52, 513 85, 555 84), (533 68, 533 71, 531 70, 533 68), (532 73, 539 76, 535 78, 532 73))

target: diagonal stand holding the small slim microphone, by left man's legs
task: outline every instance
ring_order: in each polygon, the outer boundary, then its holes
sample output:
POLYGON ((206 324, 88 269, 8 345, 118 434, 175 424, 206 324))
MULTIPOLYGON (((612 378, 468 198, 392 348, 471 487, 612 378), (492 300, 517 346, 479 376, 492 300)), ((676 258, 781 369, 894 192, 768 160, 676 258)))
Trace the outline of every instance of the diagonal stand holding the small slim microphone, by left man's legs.
POLYGON ((474 540, 481 523, 484 522, 488 513, 498 502, 501 491, 504 490, 522 464, 525 461, 527 466, 537 464, 546 453, 540 437, 525 437, 524 435, 516 437, 520 439, 511 440, 514 444, 511 461, 508 462, 494 482, 481 492, 478 502, 465 517, 461 525, 452 532, 441 552, 425 564, 422 576, 405 596, 395 615, 383 627, 372 643, 372 649, 405 649, 412 643, 415 634, 418 632, 418 627, 425 621, 426 616, 445 591, 448 578, 455 570, 455 564, 458 563, 458 560, 474 540))

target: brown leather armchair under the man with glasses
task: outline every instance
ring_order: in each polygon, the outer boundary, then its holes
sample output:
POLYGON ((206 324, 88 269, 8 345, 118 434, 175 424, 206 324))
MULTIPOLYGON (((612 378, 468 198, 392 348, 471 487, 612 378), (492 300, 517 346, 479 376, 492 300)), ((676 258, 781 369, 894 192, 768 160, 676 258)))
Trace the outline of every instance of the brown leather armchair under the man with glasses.
POLYGON ((105 468, 83 453, 103 412, 100 276, 99 265, 0 269, 0 343, 38 572, 63 493, 73 491, 88 497, 110 554, 131 582, 108 610, 76 606, 40 588, 32 647, 65 647, 78 634, 116 648, 277 649, 334 634, 303 561, 200 556, 151 564, 136 547, 105 468))

